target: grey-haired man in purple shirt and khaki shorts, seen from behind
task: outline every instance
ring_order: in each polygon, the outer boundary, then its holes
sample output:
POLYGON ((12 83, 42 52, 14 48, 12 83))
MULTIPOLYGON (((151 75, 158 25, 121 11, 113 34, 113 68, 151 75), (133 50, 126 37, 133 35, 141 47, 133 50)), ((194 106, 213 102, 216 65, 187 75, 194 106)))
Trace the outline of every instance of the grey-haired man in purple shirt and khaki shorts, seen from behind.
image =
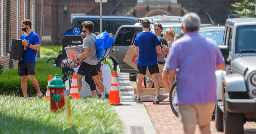
POLYGON ((182 21, 186 34, 173 42, 166 67, 169 75, 178 74, 177 103, 184 132, 193 134, 198 124, 202 134, 210 134, 217 102, 215 71, 224 70, 225 63, 216 42, 197 33, 196 13, 187 13, 182 21))

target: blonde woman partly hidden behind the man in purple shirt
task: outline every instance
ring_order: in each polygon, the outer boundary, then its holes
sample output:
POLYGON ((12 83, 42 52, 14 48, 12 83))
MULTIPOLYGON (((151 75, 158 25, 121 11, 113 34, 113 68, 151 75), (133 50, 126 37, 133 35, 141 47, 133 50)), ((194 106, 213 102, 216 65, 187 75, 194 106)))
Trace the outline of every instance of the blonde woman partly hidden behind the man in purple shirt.
MULTIPOLYGON (((170 50, 171 44, 172 44, 172 42, 174 40, 174 36, 175 36, 175 31, 173 28, 166 29, 164 33, 165 33, 166 41, 168 43, 168 47, 164 46, 161 49, 161 52, 164 52, 165 50, 168 50, 168 51, 170 50)), ((164 61, 166 62, 166 58, 164 58, 164 61)), ((162 80, 164 82, 164 86, 166 87, 167 91, 169 92, 174 78, 169 76, 167 69, 166 69, 166 64, 164 65, 162 80)), ((169 96, 170 96, 170 92, 169 92, 169 96)), ((170 102, 169 97, 164 99, 162 102, 170 102)))

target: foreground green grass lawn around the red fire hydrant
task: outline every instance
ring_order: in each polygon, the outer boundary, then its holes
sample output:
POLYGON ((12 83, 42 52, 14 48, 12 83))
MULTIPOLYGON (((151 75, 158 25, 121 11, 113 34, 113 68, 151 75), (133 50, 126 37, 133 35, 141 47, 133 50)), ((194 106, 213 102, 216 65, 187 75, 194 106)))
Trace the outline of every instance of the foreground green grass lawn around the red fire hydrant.
POLYGON ((72 124, 66 111, 50 112, 50 101, 0 96, 1 134, 120 134, 124 126, 107 101, 71 100, 72 124))

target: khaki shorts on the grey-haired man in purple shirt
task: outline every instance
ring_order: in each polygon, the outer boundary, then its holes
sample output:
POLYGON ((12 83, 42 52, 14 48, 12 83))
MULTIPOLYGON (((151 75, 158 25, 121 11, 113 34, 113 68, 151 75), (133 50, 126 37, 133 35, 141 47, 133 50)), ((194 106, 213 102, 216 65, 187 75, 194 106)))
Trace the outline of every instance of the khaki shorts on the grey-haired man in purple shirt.
POLYGON ((180 123, 184 125, 198 124, 204 126, 212 121, 215 103, 179 105, 180 123))

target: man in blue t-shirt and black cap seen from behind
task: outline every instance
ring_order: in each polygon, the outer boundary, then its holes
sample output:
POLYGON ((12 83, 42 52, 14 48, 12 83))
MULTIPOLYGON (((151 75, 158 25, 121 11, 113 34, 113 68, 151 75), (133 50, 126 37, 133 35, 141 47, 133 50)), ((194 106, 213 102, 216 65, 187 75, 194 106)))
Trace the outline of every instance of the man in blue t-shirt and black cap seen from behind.
POLYGON ((138 80, 137 80, 137 102, 142 103, 140 98, 141 93, 141 82, 144 75, 148 71, 152 76, 155 84, 156 90, 156 98, 153 101, 153 104, 158 104, 160 102, 159 99, 159 90, 160 84, 157 77, 157 73, 159 73, 158 65, 157 65, 157 55, 156 50, 159 55, 162 55, 161 48, 158 43, 158 39, 156 34, 149 32, 150 23, 148 19, 144 19, 142 21, 143 31, 140 32, 133 43, 133 49, 139 54, 139 59, 137 61, 137 69, 138 69, 138 80), (137 48, 137 46, 139 48, 137 48))

